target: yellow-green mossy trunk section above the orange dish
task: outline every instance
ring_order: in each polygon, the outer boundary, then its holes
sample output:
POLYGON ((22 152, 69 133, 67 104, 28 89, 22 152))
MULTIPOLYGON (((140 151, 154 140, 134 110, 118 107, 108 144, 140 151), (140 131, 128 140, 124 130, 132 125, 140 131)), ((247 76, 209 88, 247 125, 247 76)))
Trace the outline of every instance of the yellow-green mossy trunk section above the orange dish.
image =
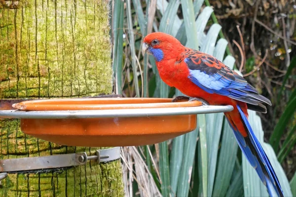
POLYGON ((107 2, 19 3, 1 9, 0 98, 111 92, 107 2))

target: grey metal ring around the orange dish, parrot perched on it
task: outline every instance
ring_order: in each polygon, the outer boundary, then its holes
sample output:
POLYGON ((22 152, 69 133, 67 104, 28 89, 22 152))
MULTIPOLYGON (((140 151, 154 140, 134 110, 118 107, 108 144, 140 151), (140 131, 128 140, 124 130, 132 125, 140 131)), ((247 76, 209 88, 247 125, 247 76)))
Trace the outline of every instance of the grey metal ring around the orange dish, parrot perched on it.
POLYGON ((203 105, 197 107, 104 109, 104 110, 63 110, 63 111, 20 111, 0 110, 0 118, 18 119, 75 119, 75 118, 119 118, 145 116, 173 116, 229 112, 231 105, 203 105))

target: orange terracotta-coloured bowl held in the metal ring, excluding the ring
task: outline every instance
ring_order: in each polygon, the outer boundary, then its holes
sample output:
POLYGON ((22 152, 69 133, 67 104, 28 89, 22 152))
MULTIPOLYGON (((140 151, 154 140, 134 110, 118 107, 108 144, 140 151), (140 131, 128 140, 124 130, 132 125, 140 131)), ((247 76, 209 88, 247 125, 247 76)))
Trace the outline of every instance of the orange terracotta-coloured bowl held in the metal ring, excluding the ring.
MULTIPOLYGON (((44 99, 13 104, 26 111, 121 110, 200 106, 199 101, 155 98, 44 99)), ((26 112, 25 112, 26 113, 26 112)), ((193 131, 196 115, 146 117, 21 119, 21 130, 68 146, 137 146, 159 143, 193 131)))

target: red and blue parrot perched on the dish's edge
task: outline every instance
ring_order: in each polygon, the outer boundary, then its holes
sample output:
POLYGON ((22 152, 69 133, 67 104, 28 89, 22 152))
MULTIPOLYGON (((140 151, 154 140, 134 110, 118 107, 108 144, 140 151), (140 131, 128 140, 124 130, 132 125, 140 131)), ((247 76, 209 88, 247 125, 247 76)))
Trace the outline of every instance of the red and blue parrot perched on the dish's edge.
POLYGON ((248 121, 247 109, 266 113, 264 104, 271 105, 271 101, 214 56, 187 48, 172 35, 149 33, 142 52, 154 57, 160 78, 170 87, 203 103, 233 106, 224 115, 240 149, 269 195, 283 197, 277 175, 248 121))

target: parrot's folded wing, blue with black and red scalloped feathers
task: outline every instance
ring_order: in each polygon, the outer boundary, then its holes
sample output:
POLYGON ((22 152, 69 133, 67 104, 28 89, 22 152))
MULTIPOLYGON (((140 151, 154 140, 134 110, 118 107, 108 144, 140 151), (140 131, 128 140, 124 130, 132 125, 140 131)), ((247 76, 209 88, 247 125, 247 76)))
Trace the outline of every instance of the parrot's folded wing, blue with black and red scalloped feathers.
POLYGON ((266 110, 260 103, 271 105, 270 100, 259 95, 258 91, 242 76, 213 56, 195 50, 187 53, 189 53, 186 56, 188 58, 185 58, 184 62, 189 69, 188 78, 202 90, 256 105, 259 109, 266 110))

